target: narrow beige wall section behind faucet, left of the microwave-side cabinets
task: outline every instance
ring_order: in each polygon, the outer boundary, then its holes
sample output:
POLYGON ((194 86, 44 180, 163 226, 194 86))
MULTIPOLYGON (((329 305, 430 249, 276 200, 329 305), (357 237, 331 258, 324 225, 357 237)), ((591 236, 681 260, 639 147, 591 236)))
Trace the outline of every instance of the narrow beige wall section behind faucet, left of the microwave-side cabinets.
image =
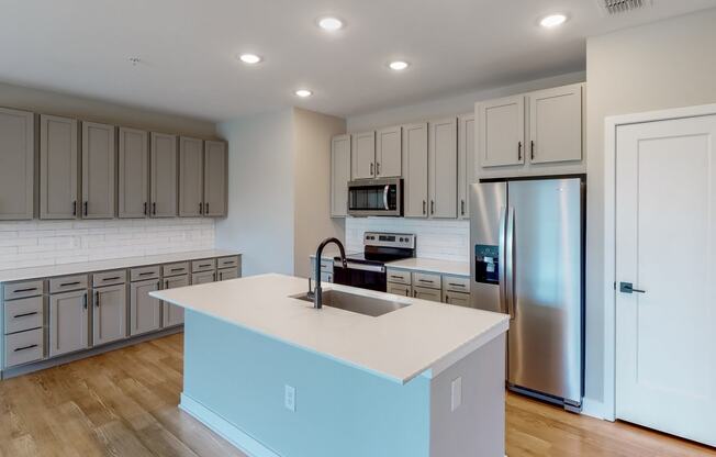
POLYGON ((331 137, 346 132, 346 121, 293 110, 294 130, 294 274, 310 276, 309 256, 321 241, 345 241, 345 220, 331 219, 331 137))

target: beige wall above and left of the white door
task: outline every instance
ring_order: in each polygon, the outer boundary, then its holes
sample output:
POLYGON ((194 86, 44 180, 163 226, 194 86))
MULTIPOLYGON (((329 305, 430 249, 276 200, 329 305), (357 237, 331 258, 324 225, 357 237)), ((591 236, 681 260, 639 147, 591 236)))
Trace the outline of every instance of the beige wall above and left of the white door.
POLYGON ((586 397, 604 391, 604 119, 716 102, 716 9, 588 40, 586 397))

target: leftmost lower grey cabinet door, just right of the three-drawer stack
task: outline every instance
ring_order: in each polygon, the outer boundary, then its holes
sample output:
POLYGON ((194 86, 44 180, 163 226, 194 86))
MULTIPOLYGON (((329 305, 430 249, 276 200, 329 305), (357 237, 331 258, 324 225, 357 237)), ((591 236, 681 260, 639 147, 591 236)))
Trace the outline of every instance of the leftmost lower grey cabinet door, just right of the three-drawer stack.
POLYGON ((87 290, 49 296, 49 356, 89 347, 87 290))

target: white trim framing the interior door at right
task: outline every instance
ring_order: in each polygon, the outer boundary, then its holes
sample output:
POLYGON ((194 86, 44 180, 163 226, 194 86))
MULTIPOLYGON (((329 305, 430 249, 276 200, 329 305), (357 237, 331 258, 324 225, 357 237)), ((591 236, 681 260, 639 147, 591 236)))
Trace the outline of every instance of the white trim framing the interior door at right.
POLYGON ((604 119, 604 419, 616 420, 616 130, 620 125, 716 114, 716 104, 604 119))

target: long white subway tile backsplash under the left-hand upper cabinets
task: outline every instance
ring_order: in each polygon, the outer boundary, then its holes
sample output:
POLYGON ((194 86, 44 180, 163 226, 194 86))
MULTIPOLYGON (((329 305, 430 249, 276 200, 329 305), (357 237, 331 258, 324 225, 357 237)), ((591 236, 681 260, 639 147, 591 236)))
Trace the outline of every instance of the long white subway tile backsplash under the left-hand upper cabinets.
POLYGON ((0 269, 214 247, 214 220, 0 222, 0 269))

